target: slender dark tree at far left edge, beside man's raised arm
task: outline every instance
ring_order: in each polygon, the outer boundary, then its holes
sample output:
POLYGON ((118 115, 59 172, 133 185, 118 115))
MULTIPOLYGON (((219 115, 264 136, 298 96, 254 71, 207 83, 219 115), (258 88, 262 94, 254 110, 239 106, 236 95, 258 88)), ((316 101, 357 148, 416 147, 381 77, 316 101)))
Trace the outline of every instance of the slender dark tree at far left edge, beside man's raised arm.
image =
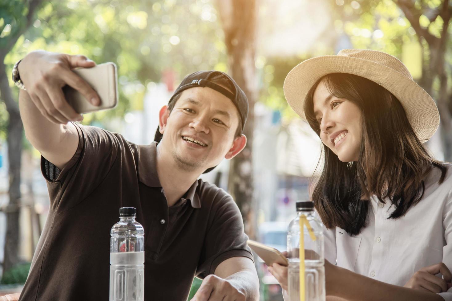
POLYGON ((19 200, 20 163, 22 154, 23 124, 19 106, 14 101, 6 72, 5 57, 19 37, 30 27, 42 0, 2 2, 0 8, 0 94, 9 115, 6 141, 9 163, 9 203, 6 213, 5 257, 3 273, 18 263, 19 253, 19 200))

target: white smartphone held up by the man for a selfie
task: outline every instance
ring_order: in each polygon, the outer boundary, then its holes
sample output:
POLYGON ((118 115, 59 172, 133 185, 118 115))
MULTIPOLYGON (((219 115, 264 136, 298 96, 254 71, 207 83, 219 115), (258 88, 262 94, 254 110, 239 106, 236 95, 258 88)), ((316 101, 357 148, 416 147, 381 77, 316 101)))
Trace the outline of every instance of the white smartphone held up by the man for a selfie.
POLYGON ((63 93, 67 102, 79 114, 112 109, 118 104, 118 75, 114 63, 104 63, 93 68, 72 70, 83 78, 100 97, 100 105, 92 105, 79 91, 66 85, 63 93))

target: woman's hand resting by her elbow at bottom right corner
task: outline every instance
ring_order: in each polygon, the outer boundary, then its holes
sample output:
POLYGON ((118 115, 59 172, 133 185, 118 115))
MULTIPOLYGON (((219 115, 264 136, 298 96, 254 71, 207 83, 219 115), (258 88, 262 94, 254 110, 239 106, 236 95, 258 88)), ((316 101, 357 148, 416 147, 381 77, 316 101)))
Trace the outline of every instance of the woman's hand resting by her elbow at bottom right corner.
POLYGON ((436 265, 424 267, 414 273, 404 287, 434 293, 447 292, 452 287, 451 279, 451 272, 445 264, 440 262, 436 265), (438 273, 441 273, 444 279, 436 277, 435 275, 438 273))

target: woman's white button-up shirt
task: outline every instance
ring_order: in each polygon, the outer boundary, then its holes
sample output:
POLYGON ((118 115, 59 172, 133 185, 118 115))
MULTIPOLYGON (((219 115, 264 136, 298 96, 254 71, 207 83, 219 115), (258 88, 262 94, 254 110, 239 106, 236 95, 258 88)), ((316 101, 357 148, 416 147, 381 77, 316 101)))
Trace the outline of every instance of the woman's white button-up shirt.
MULTIPOLYGON (((438 184, 441 171, 432 170, 421 201, 399 219, 387 219, 394 210, 390 200, 384 204, 372 197, 367 226, 357 236, 338 227, 325 228, 325 259, 399 286, 419 269, 439 262, 452 271, 451 166, 447 165, 442 184, 438 184)), ((452 301, 452 288, 439 295, 452 301)))

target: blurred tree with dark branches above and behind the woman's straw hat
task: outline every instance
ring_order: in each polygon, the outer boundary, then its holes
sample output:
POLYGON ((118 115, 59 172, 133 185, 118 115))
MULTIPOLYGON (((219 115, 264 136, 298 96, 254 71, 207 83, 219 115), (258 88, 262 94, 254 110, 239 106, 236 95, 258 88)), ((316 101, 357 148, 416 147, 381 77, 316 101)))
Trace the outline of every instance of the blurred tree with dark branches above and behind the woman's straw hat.
POLYGON ((345 35, 354 48, 381 50, 400 58, 404 45, 419 43, 422 74, 417 81, 436 100, 444 160, 452 161, 450 0, 331 0, 330 3, 337 44, 345 35))

